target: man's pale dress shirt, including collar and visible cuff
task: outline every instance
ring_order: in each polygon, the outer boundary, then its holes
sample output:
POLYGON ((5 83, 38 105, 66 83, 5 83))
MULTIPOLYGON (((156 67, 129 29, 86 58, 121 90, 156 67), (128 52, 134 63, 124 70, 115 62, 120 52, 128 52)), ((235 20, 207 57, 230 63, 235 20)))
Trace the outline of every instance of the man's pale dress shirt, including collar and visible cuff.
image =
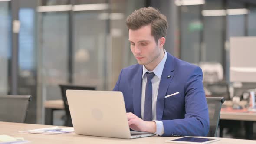
MULTIPOLYGON (((159 83, 161 80, 161 75, 164 69, 164 64, 167 59, 167 53, 164 49, 164 58, 161 60, 161 62, 154 68, 153 71, 155 76, 151 79, 152 82, 152 120, 156 123, 157 131, 155 134, 163 135, 164 134, 164 125, 162 121, 156 121, 157 119, 157 98, 158 98, 158 89, 159 89, 159 83)), ((142 73, 142 89, 141 89, 141 117, 143 119, 144 117, 144 105, 145 105, 145 90, 146 90, 146 84, 147 84, 147 77, 145 76, 145 73, 149 72, 148 69, 143 65, 143 73, 142 73)))

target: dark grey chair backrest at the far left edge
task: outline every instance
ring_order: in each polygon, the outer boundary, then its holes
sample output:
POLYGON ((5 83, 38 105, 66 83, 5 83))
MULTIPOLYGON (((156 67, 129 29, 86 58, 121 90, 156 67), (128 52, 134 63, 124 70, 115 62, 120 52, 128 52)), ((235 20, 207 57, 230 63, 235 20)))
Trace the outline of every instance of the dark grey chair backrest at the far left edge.
POLYGON ((0 121, 24 123, 30 95, 0 95, 0 121))

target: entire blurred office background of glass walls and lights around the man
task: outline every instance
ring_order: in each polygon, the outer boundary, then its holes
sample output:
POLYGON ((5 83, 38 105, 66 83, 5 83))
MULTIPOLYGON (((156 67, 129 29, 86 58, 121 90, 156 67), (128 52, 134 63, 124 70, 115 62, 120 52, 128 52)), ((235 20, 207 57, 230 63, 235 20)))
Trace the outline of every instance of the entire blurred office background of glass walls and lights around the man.
POLYGON ((167 52, 217 65, 217 82, 232 90, 229 39, 256 36, 256 0, 0 0, 0 94, 32 95, 26 122, 44 124, 59 84, 112 90, 136 63, 125 19, 148 6, 167 16, 167 52))

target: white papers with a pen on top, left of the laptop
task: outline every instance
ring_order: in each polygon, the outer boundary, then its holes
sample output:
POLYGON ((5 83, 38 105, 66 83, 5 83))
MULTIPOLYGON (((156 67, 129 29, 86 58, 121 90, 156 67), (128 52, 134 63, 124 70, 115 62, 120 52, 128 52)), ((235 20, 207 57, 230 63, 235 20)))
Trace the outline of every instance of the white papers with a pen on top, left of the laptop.
POLYGON ((59 131, 45 131, 45 130, 57 129, 57 128, 59 127, 39 128, 39 129, 34 129, 29 131, 19 131, 19 132, 33 133, 33 134, 62 134, 62 133, 74 132, 74 128, 61 128, 62 130, 59 130, 59 131))

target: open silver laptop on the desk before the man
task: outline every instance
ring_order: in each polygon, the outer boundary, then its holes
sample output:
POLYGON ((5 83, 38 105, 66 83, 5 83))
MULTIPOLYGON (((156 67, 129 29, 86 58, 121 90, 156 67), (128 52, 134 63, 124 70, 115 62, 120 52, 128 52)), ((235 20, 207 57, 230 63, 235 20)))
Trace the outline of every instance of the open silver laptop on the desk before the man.
POLYGON ((155 135, 130 131, 122 92, 67 90, 66 95, 76 134, 126 139, 155 135))

